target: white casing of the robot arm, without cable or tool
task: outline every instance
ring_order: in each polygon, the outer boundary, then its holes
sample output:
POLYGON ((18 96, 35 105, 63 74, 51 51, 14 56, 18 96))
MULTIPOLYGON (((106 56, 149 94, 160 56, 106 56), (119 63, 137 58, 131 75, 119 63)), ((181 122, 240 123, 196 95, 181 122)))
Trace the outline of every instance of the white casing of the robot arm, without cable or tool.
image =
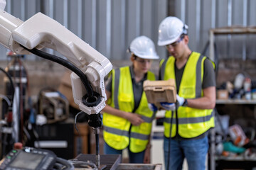
POLYGON ((82 103, 86 89, 80 78, 71 74, 74 101, 81 111, 87 114, 99 113, 105 107, 104 77, 111 71, 112 64, 100 52, 82 41, 57 21, 36 13, 23 22, 11 14, 0 10, 0 43, 17 54, 30 54, 24 50, 48 47, 60 52, 86 74, 92 89, 102 96, 101 102, 94 107, 87 107, 82 103))

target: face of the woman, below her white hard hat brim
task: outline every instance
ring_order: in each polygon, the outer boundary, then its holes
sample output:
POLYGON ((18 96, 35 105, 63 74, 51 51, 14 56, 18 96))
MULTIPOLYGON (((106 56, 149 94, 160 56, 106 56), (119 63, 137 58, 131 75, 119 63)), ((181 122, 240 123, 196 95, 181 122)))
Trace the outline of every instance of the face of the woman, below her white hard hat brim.
POLYGON ((134 65, 134 71, 143 72, 144 74, 149 71, 152 63, 152 60, 142 59, 134 55, 131 57, 131 60, 134 65))

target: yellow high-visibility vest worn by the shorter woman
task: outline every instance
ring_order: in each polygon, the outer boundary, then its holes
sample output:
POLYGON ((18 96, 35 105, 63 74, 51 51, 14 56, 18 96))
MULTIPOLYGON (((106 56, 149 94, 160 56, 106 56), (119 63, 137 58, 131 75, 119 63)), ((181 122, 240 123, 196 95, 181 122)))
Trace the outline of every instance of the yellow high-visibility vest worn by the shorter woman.
MULTIPOLYGON (((147 72, 147 79, 155 80, 154 74, 147 72)), ((134 110, 134 92, 129 67, 112 70, 112 96, 108 102, 111 107, 121 111, 132 113, 134 110)), ((134 153, 146 149, 154 113, 148 107, 144 91, 135 113, 142 115, 144 120, 139 126, 132 125, 124 118, 103 113, 103 137, 107 145, 114 149, 125 149, 129 145, 129 149, 134 153)))

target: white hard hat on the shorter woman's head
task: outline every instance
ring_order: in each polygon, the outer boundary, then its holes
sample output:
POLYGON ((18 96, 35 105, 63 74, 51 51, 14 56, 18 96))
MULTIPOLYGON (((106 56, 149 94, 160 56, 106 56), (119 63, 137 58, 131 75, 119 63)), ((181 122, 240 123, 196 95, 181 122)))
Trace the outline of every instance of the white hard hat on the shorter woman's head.
POLYGON ((144 35, 132 40, 129 45, 129 51, 143 59, 159 59, 159 56, 156 54, 154 42, 144 35))

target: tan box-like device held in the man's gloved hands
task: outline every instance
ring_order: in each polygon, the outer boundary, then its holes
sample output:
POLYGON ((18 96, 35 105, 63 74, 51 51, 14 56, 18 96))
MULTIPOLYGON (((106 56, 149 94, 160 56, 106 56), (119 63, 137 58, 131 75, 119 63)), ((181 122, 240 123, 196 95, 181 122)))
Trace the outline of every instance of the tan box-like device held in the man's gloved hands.
POLYGON ((157 107, 160 107, 160 102, 176 102, 174 79, 159 81, 146 80, 144 81, 143 88, 148 102, 154 103, 157 107))

